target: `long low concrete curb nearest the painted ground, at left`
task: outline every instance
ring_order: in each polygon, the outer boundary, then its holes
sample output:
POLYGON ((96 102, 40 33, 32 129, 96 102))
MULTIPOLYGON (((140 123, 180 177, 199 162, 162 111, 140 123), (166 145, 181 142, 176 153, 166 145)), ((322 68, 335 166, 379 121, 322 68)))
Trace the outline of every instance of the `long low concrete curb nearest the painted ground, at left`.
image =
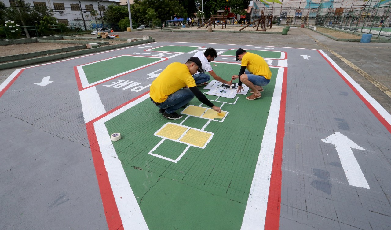
POLYGON ((50 55, 50 56, 45 56, 45 57, 40 57, 40 58, 32 58, 32 59, 27 59, 27 60, 3 63, 3 64, 0 64, 0 70, 7 69, 7 68, 16 68, 16 67, 25 66, 25 65, 32 65, 32 64, 42 63, 42 62, 46 62, 46 61, 54 61, 57 59, 69 58, 72 56, 79 56, 79 55, 83 55, 83 54, 101 52, 101 51, 105 51, 105 50, 118 49, 118 48, 127 47, 127 46, 140 45, 143 43, 149 43, 149 42, 153 42, 153 41, 155 41, 154 38, 147 39, 147 40, 140 40, 140 41, 132 41, 132 42, 117 44, 117 45, 109 45, 106 47, 77 50, 77 51, 68 52, 65 54, 55 54, 55 55, 50 55))

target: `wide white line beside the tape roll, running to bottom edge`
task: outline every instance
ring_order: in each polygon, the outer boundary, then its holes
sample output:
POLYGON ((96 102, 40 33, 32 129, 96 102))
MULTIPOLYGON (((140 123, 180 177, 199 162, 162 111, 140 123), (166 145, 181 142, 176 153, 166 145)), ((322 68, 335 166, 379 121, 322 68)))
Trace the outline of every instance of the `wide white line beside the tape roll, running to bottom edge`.
POLYGON ((145 223, 135 194, 129 185, 129 180, 126 177, 121 161, 118 159, 103 119, 94 123, 94 129, 111 189, 113 190, 115 203, 122 220, 122 226, 124 226, 124 229, 147 230, 147 223, 145 223))

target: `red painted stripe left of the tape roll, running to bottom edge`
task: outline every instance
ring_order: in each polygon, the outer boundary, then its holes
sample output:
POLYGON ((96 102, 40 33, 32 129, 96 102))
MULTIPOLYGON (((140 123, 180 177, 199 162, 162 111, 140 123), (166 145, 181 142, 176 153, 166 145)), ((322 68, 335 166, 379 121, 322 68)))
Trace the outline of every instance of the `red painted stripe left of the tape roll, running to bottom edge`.
POLYGON ((104 166, 102 153, 100 152, 98 140, 93 127, 93 122, 86 124, 88 140, 90 142, 92 159, 95 166, 95 173, 98 179, 98 185, 100 190, 100 196, 102 197, 102 204, 104 208, 104 214, 106 215, 106 221, 109 229, 124 229, 122 226, 122 220, 118 212, 117 204, 111 190, 109 176, 104 166))

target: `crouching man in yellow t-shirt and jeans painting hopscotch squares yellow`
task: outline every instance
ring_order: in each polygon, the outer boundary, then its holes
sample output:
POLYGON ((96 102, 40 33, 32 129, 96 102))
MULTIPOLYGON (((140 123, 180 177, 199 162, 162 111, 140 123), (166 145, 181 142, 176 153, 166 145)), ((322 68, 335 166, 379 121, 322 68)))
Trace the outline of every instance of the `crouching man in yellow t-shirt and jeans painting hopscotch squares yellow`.
POLYGON ((160 108, 159 113, 163 113, 167 119, 180 119, 182 115, 175 111, 193 99, 194 95, 213 110, 221 112, 221 109, 213 105, 195 85, 192 75, 197 70, 200 73, 204 72, 201 61, 196 57, 191 57, 185 64, 171 63, 152 81, 149 96, 151 101, 160 108))

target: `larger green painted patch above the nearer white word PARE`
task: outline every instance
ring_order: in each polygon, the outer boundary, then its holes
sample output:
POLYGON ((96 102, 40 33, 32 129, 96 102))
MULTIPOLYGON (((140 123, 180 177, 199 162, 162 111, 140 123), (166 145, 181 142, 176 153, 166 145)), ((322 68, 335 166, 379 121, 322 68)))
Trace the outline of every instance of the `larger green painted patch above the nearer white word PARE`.
POLYGON ((84 65, 83 70, 88 83, 92 84, 108 77, 127 72, 143 65, 159 61, 161 58, 145 58, 133 56, 120 56, 89 65, 84 65))

